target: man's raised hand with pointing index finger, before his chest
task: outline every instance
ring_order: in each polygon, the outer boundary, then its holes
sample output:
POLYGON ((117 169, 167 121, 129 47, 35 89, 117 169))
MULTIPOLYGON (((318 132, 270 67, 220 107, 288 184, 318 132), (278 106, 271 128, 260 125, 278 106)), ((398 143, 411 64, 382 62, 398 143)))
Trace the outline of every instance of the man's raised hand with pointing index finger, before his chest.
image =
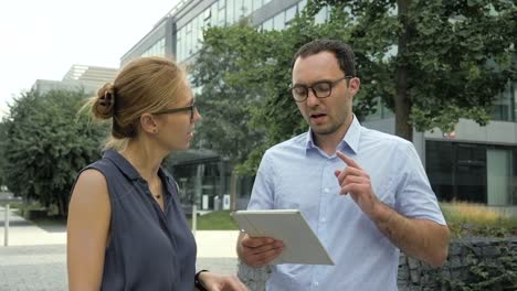
POLYGON ((341 186, 339 194, 350 194, 361 211, 372 217, 374 214, 374 206, 379 203, 379 200, 373 194, 370 175, 368 175, 368 173, 362 170, 356 161, 342 152, 337 151, 336 154, 348 165, 342 171, 336 170, 334 172, 338 179, 339 185, 341 186))

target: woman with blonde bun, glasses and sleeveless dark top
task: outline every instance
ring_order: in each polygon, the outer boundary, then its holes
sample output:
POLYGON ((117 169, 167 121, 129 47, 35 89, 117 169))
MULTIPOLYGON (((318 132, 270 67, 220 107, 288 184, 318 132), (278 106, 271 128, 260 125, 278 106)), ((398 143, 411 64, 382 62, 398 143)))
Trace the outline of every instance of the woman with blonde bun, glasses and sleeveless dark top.
POLYGON ((138 58, 86 108, 110 120, 112 134, 72 192, 70 290, 246 290, 235 277, 196 273, 177 184, 160 168, 189 148, 201 118, 183 71, 166 58, 138 58))

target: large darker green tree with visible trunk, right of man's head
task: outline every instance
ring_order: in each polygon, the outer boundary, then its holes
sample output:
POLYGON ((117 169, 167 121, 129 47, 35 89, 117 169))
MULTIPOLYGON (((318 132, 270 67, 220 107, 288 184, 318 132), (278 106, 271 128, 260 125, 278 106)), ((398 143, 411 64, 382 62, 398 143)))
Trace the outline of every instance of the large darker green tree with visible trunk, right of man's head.
POLYGON ((450 131, 460 118, 488 122, 494 99, 517 79, 516 21, 517 7, 507 0, 314 0, 281 37, 282 45, 296 44, 292 52, 300 40, 350 43, 362 80, 356 114, 380 99, 395 114, 395 134, 412 140, 413 127, 450 131), (324 7, 330 19, 316 24, 324 7))

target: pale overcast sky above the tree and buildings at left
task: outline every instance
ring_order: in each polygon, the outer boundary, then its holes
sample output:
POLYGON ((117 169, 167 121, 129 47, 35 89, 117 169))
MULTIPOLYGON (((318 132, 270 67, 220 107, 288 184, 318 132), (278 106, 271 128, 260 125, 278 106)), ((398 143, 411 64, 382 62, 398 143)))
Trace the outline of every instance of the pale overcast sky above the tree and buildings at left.
POLYGON ((180 0, 0 2, 0 117, 36 79, 61 80, 72 65, 119 67, 180 0))

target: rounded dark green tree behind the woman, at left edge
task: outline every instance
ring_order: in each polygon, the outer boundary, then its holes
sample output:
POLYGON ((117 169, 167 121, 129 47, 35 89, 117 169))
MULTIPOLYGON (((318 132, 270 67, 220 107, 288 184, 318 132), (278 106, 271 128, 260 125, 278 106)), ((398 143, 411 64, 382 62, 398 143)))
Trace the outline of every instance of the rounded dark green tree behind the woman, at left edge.
POLYGON ((7 185, 27 201, 66 215, 77 172, 99 155, 105 130, 78 116, 81 91, 23 93, 3 120, 7 185))

